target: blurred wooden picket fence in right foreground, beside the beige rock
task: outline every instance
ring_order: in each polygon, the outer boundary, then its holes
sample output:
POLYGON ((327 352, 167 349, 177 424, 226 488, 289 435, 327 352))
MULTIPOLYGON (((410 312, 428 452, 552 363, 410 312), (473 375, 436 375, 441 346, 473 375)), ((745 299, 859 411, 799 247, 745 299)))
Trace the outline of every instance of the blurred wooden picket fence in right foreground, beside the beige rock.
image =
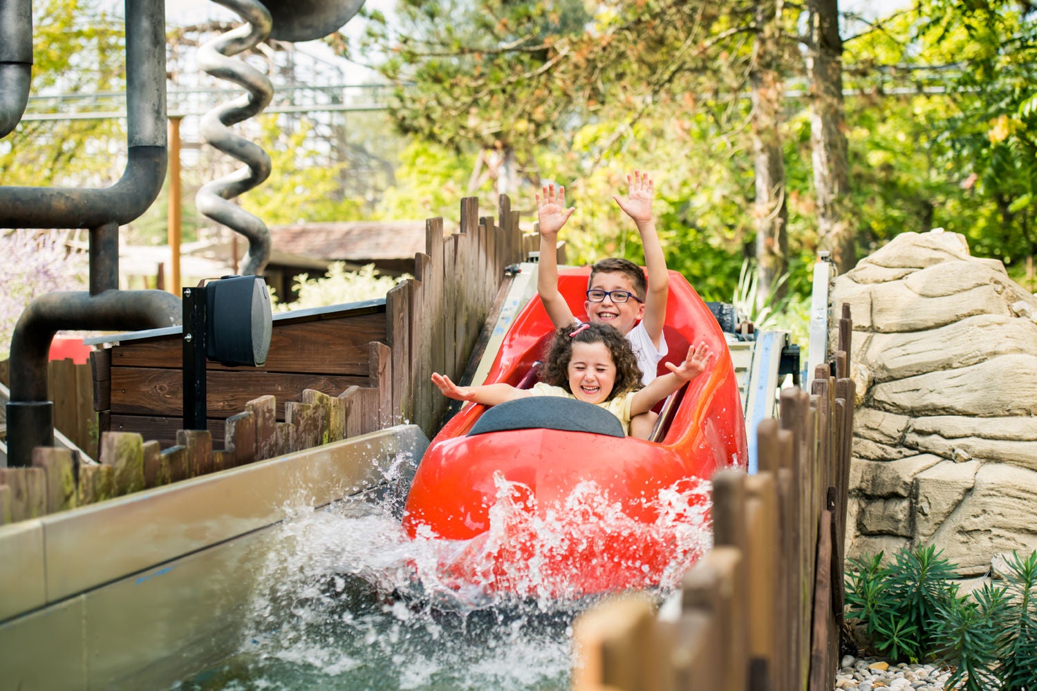
POLYGON ((811 394, 781 393, 757 430, 760 471, 713 477, 713 547, 684 576, 681 612, 624 596, 576 624, 578 691, 831 691, 843 613, 853 430, 849 310, 811 394), (835 376, 832 371, 835 370, 835 376))

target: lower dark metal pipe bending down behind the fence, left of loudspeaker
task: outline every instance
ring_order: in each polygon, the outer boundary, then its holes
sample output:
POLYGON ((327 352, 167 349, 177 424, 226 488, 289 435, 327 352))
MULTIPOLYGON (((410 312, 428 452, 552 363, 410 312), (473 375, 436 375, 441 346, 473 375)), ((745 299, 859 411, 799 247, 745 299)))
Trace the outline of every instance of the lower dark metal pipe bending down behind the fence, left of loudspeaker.
POLYGON ((32 463, 35 447, 54 445, 54 404, 47 398, 51 341, 62 329, 137 330, 179 322, 180 300, 164 290, 53 292, 29 304, 10 341, 7 464, 32 463))

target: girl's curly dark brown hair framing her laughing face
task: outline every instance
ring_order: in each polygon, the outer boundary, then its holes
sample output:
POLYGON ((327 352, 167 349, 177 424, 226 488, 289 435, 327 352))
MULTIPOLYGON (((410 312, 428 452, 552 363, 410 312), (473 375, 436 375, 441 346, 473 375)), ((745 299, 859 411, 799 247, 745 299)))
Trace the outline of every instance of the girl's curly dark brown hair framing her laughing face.
POLYGON ((641 368, 638 367, 637 355, 626 337, 608 324, 580 324, 579 326, 563 326, 555 332, 545 349, 543 381, 552 386, 569 388, 569 361, 572 359, 573 343, 604 343, 612 354, 616 366, 616 383, 606 401, 611 401, 626 392, 641 388, 641 368), (569 336, 577 329, 580 333, 569 336))

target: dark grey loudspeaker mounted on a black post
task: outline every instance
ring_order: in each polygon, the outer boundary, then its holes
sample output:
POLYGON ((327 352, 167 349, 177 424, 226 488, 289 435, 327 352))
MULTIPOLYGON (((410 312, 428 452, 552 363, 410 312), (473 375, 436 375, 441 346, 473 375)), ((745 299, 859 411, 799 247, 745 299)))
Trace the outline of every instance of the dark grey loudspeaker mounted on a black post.
POLYGON ((227 276, 205 284, 205 356, 221 365, 259 367, 273 333, 270 292, 261 276, 227 276))

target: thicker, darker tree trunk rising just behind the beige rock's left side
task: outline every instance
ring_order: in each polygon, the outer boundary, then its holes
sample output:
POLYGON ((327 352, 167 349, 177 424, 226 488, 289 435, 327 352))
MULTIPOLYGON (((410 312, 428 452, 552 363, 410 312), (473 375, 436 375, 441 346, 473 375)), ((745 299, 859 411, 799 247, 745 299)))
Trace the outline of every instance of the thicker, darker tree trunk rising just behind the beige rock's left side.
POLYGON ((857 264, 849 198, 849 162, 843 132, 842 38, 838 0, 810 0, 810 140, 817 235, 840 273, 857 264))

